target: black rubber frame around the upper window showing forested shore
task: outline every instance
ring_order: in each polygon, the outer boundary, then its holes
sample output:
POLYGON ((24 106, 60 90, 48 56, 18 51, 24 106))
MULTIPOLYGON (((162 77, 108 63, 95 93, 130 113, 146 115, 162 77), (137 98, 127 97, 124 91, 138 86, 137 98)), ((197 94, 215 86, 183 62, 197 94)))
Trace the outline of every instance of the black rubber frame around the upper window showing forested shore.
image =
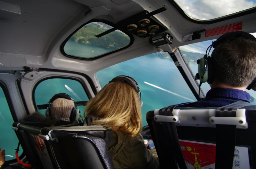
POLYGON ((60 51, 61 51, 61 53, 62 53, 64 56, 66 56, 66 57, 68 57, 68 58, 73 58, 73 59, 95 60, 95 59, 99 59, 99 58, 102 58, 102 57, 104 57, 104 56, 113 54, 113 53, 115 53, 115 52, 119 52, 119 51, 121 51, 121 50, 127 49, 127 48, 130 47, 130 46, 133 44, 133 42, 134 42, 134 37, 133 37, 133 35, 132 35, 130 32, 128 32, 126 29, 118 29, 118 30, 124 32, 126 35, 129 36, 129 38, 130 38, 130 43, 129 43, 128 45, 126 45, 126 46, 124 46, 124 47, 121 47, 121 48, 119 48, 119 49, 116 49, 116 50, 113 50, 113 51, 104 53, 104 54, 102 54, 102 55, 98 55, 98 56, 93 57, 93 58, 83 58, 83 57, 79 57, 79 56, 72 56, 72 55, 66 54, 65 51, 64 51, 64 46, 65 46, 65 44, 68 42, 68 40, 71 38, 71 36, 73 36, 73 35, 74 35, 77 31, 79 31, 83 26, 85 26, 85 25, 87 25, 87 24, 89 24, 89 23, 91 23, 91 22, 102 22, 102 23, 105 23, 105 24, 108 24, 108 25, 112 26, 113 28, 116 27, 115 24, 113 24, 112 22, 107 21, 107 20, 103 20, 103 19, 91 19, 91 20, 89 20, 88 22, 84 23, 84 24, 81 25, 79 28, 77 28, 73 33, 71 33, 71 34, 65 39, 65 41, 61 44, 61 46, 60 46, 60 51))

